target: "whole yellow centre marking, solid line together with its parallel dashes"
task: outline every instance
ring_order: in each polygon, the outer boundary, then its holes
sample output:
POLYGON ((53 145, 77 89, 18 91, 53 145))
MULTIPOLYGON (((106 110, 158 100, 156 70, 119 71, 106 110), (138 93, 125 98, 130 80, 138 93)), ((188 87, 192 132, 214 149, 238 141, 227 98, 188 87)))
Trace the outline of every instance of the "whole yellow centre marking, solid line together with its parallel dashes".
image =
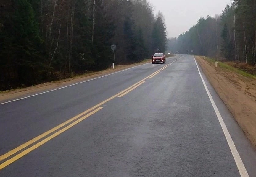
MULTIPOLYGON (((166 67, 167 66, 164 66, 163 68, 166 68, 166 67)), ((48 130, 47 132, 44 132, 41 135, 33 138, 32 140, 29 140, 28 142, 25 142, 24 144, 18 146, 17 148, 14 148, 13 150, 11 150, 11 151, 1 155, 0 156, 0 162, 2 160, 4 160, 4 159, 7 159, 7 158, 9 158, 9 159, 0 164, 0 170, 5 168, 7 165, 10 165, 11 163, 15 162, 16 160, 22 158, 24 155, 30 153, 34 149, 38 148, 39 146, 43 145, 44 143, 48 142, 49 140, 53 139, 54 137, 58 136, 59 134, 65 132, 68 129, 70 129, 71 127, 73 127, 74 125, 76 125, 79 122, 83 121, 84 119, 86 119, 87 117, 91 116, 92 114, 95 114, 96 112, 101 110, 103 108, 101 106, 103 104, 107 103, 108 101, 110 101, 110 100, 112 100, 112 99, 114 99, 116 97, 122 97, 125 94, 129 93, 130 91, 134 90, 135 88, 139 87, 141 84, 146 82, 145 80, 147 78, 154 77, 155 75, 160 73, 160 70, 162 70, 163 68, 157 70, 156 72, 152 73, 151 75, 147 76, 146 78, 142 79, 141 81, 133 84, 132 86, 128 87, 127 89, 119 92, 118 94, 116 94, 116 95, 106 99, 105 101, 100 102, 99 104, 91 107, 90 109, 87 109, 86 111, 78 114, 77 116, 75 116, 75 117, 73 117, 73 118, 63 122, 62 124, 59 124, 58 126, 48 130), (50 136, 48 136, 48 135, 50 135, 50 136), (48 137, 46 137, 46 136, 48 136, 48 137), (33 143, 36 143, 36 144, 32 145, 33 143), (32 146, 30 146, 30 145, 32 145, 32 146), (25 150, 23 150, 23 149, 25 149, 25 150), (21 151, 21 150, 23 150, 23 151, 21 151), (18 153, 19 151, 21 151, 21 152, 18 153), (18 154, 14 155, 16 153, 18 153, 18 154), (14 156, 11 157, 12 155, 14 155, 14 156)))

